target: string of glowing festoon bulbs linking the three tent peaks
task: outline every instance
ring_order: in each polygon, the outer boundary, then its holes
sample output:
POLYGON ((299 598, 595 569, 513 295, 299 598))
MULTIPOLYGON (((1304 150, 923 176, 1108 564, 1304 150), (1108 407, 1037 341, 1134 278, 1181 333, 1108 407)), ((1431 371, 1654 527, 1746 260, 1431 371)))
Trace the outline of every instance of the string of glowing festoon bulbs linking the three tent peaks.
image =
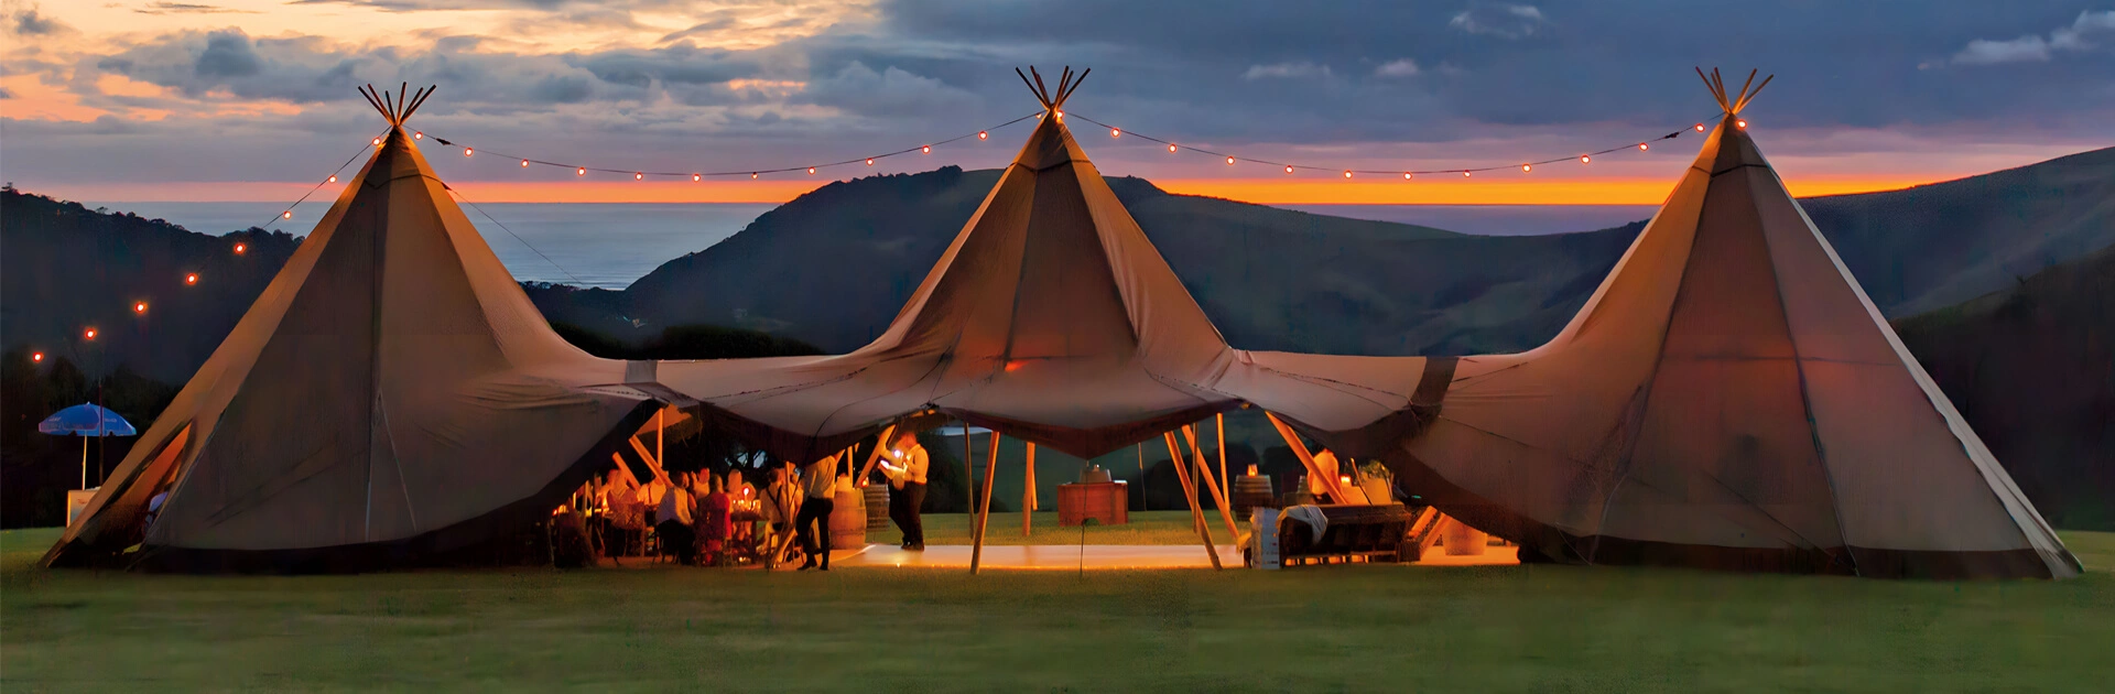
MULTIPOLYGON (((556 169, 569 169, 569 171, 573 171, 573 176, 580 176, 580 178, 584 178, 588 174, 618 174, 618 176, 630 176, 632 180, 641 180, 641 182, 647 180, 647 178, 675 178, 675 180, 689 178, 692 182, 702 182, 706 178, 738 178, 738 176, 749 176, 751 180, 757 180, 757 178, 774 176, 774 174, 806 174, 806 176, 816 176, 816 174, 821 174, 825 169, 835 169, 835 167, 852 167, 852 165, 867 165, 867 167, 871 167, 871 165, 880 163, 882 159, 890 159, 890 157, 933 154, 933 148, 956 144, 956 142, 971 140, 971 138, 975 138, 977 142, 988 142, 988 140, 992 140, 992 131, 998 131, 998 129, 1005 129, 1009 125, 1024 123, 1024 121, 1030 121, 1030 118, 1043 118, 1043 116, 1045 116, 1045 112, 1032 112, 1032 114, 1026 114, 1026 116, 1019 116, 1019 118, 1013 118, 1013 121, 1007 121, 1007 123, 1000 123, 1000 125, 992 125, 992 127, 979 129, 975 133, 962 133, 962 135, 954 135, 954 138, 948 138, 948 140, 937 140, 937 142, 920 144, 920 146, 912 146, 912 148, 888 150, 888 152, 880 152, 880 154, 867 154, 867 157, 854 157, 854 159, 842 159, 842 161, 825 161, 825 163, 806 163, 806 165, 776 165, 776 167, 757 167, 757 169, 715 169, 715 171, 649 171, 649 169, 626 169, 626 167, 605 167, 605 165, 592 165, 590 167, 590 165, 584 165, 584 163, 565 163, 565 161, 552 161, 552 159, 537 159, 537 157, 520 157, 520 154, 510 154, 510 152, 497 152, 497 150, 480 150, 480 148, 470 146, 470 144, 459 142, 459 140, 446 140, 446 138, 438 138, 438 135, 427 135, 425 131, 412 131, 410 138, 412 140, 434 140, 434 144, 461 150, 463 157, 484 154, 484 157, 493 157, 493 159, 501 159, 501 161, 514 161, 516 167, 520 167, 520 169, 529 169, 529 167, 556 167, 556 169)), ((1062 123, 1066 118, 1066 112, 1058 110, 1055 116, 1062 123)), ((1225 161, 1227 165, 1242 165, 1242 163, 1267 165, 1267 167, 1280 169, 1280 171, 1284 171, 1288 176, 1290 174, 1299 174, 1299 171, 1326 171, 1326 174, 1335 174, 1335 176, 1341 176, 1341 178, 1356 178, 1356 176, 1402 176, 1402 180, 1415 180, 1419 176, 1461 176, 1461 178, 1472 178, 1476 174, 1487 174, 1487 171, 1533 174, 1535 167, 1546 167, 1546 165, 1555 165, 1555 163, 1574 163, 1574 161, 1580 163, 1580 165, 1590 165, 1595 161, 1595 157, 1607 157, 1607 154, 1620 154, 1620 152, 1650 152, 1654 142, 1675 140, 1675 138, 1681 138, 1684 133, 1690 133, 1690 131, 1696 131, 1696 133, 1705 131, 1705 125, 1696 123, 1696 125, 1690 125, 1690 127, 1684 127, 1684 129, 1658 135, 1658 138, 1637 140, 1637 142, 1629 142, 1629 144, 1620 144, 1620 146, 1610 146, 1610 148, 1599 148, 1599 150, 1590 150, 1590 152, 1578 152, 1578 154, 1565 154, 1565 157, 1552 157, 1552 159, 1538 159, 1538 161, 1521 161, 1521 163, 1495 163, 1495 165, 1472 165, 1472 167, 1449 167, 1449 169, 1358 169, 1358 167, 1332 167, 1332 165, 1318 165, 1318 163, 1292 163, 1292 161, 1280 161, 1280 159, 1246 157, 1246 154, 1237 154, 1237 152, 1225 152, 1225 150, 1187 146, 1187 144, 1178 144, 1176 140, 1155 138, 1155 135, 1129 131, 1129 129, 1123 129, 1123 127, 1117 127, 1117 125, 1093 121, 1093 118, 1083 116, 1083 114, 1070 114, 1070 116, 1079 118, 1083 123, 1089 123, 1089 125, 1106 129, 1108 138, 1112 138, 1112 140, 1138 138, 1138 140, 1155 142, 1159 146, 1165 146, 1170 154, 1203 154, 1203 157, 1212 157, 1212 159, 1225 161)), ((1736 121, 1734 127, 1747 129, 1747 121, 1736 121)), ((368 140, 370 148, 372 146, 381 146, 381 144, 383 144, 383 135, 376 135, 376 138, 368 140)), ((366 152, 366 148, 362 148, 362 152, 366 152)), ((343 165, 338 165, 338 169, 332 171, 324 182, 315 184, 315 188, 309 188, 309 193, 305 193, 300 199, 296 199, 283 212, 279 212, 279 216, 273 222, 292 220, 294 218, 294 207, 298 207, 309 197, 313 197, 315 190, 321 190, 321 186, 338 182, 338 174, 343 174, 345 167, 349 167, 357 159, 360 159, 360 152, 355 152, 351 159, 347 159, 343 165)), ((241 245, 237 245, 237 252, 241 252, 241 245)))

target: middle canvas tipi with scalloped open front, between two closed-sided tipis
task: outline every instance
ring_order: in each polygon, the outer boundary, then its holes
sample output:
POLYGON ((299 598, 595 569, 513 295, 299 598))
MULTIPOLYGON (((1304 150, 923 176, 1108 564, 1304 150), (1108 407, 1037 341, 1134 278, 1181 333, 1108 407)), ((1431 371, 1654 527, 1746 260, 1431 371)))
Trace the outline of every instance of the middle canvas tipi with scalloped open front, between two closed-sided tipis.
POLYGON ((1417 419, 1400 413, 1423 360, 1345 383, 1330 377, 1379 362, 1227 347, 1066 129, 1077 85, 1030 85, 1043 121, 873 343, 825 358, 662 362, 660 383, 787 459, 924 410, 1079 457, 1244 402, 1356 432, 1417 419))

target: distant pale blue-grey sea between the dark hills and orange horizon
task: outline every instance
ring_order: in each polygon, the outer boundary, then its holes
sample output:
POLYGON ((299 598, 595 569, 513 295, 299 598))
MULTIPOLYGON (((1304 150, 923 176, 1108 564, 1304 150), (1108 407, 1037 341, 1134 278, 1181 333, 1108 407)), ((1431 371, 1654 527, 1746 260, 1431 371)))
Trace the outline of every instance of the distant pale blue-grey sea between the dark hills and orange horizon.
MULTIPOLYGON (((82 203, 224 235, 264 226, 307 235, 330 203, 281 220, 281 203, 82 203)), ((622 290, 662 262, 732 237, 776 205, 744 203, 480 203, 463 207, 522 281, 622 290), (497 224, 495 224, 497 222, 497 224), (541 252, 541 254, 539 254, 541 252)), ((1548 235, 1650 218, 1652 205, 1284 205, 1313 214, 1436 226, 1472 235, 1548 235)))

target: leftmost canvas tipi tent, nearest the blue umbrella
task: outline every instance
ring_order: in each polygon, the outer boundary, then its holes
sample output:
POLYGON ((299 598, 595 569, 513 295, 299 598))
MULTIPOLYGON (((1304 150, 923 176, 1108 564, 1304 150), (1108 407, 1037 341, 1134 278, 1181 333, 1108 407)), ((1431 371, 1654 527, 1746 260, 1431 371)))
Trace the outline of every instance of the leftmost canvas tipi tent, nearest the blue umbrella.
POLYGON ((400 127, 423 95, 374 95, 385 142, 47 565, 135 542, 178 569, 446 552, 550 514, 656 410, 626 362, 550 330, 448 199, 400 127))

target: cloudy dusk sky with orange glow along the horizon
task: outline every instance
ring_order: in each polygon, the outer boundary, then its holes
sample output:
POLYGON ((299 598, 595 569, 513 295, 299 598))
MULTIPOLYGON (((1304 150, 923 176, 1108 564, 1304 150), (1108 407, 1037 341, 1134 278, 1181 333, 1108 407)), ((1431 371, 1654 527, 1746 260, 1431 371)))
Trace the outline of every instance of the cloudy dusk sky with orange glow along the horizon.
MULTIPOLYGON (((95 201, 286 201, 383 129, 353 91, 438 85, 412 127, 613 169, 764 169, 1036 110, 1015 66, 1093 68, 1068 112, 1258 159, 1449 169, 1715 118, 1692 66, 1777 74, 1745 116, 1794 193, 1899 188, 2115 144, 2115 4, 0 0, 0 167, 95 201)), ((1070 121, 1070 118, 1068 118, 1070 121)), ((1104 174, 1261 203, 1658 203, 1698 138, 1413 182, 1170 154, 1068 123, 1104 174)), ((785 201, 1003 165, 1028 127, 819 176, 632 182, 425 146, 480 201, 785 201)), ((355 163, 357 165, 357 163, 355 163)))

